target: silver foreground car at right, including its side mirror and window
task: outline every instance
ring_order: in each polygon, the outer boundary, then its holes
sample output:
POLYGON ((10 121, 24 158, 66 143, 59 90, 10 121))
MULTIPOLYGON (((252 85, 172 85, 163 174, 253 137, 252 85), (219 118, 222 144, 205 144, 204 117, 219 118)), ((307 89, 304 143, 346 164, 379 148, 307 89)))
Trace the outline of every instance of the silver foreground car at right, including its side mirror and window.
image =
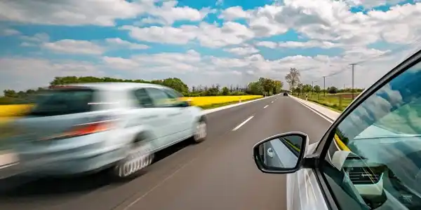
POLYGON ((288 132, 256 144, 262 172, 288 174, 287 209, 421 209, 420 80, 421 50, 362 92, 316 143, 288 132))

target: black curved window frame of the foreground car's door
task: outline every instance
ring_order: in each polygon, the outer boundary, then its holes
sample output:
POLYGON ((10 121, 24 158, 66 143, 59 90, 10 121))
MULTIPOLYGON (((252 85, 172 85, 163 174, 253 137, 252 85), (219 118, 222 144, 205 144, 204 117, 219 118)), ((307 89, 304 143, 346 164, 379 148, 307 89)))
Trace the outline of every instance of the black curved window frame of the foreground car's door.
MULTIPOLYGON (((410 67, 415 66, 415 64, 419 62, 421 62, 421 50, 415 52, 413 55, 403 60, 403 62, 394 67, 394 69, 386 73, 385 76, 361 92, 361 94, 359 94, 359 96, 354 99, 354 102, 349 104, 349 106, 342 112, 342 114, 340 114, 340 116, 332 123, 332 125, 330 125, 326 133, 319 141, 319 144, 317 144, 316 148, 314 149, 314 153, 305 157, 304 165, 307 166, 307 168, 312 168, 312 172, 314 172, 317 183, 319 183, 321 194, 325 199, 328 209, 340 209, 338 207, 335 196, 330 193, 331 190, 328 181, 321 171, 321 164, 323 161, 325 161, 330 144, 333 143, 332 141, 335 135, 335 129, 338 127, 338 125, 340 125, 340 123, 342 123, 345 118, 347 118, 347 116, 349 116, 350 113, 352 113, 352 111, 354 111, 363 102, 365 102, 368 97, 375 94, 377 90, 384 87, 387 83, 389 83, 390 80, 393 80, 397 76, 401 75, 401 73, 408 70, 410 67)), ((296 179, 299 178, 296 177, 296 179)))

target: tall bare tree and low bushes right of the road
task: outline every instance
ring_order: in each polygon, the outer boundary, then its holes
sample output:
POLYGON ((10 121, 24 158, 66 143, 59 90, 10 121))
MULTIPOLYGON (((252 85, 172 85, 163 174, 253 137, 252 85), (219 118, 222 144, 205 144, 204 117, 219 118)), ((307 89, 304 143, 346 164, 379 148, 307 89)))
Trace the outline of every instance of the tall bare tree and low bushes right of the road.
MULTIPOLYGON (((310 85, 310 84, 303 84, 301 83, 301 74, 300 71, 296 68, 290 68, 290 71, 285 76, 286 83, 290 86, 290 91, 295 92, 295 94, 302 94, 302 93, 309 93, 314 92, 316 94, 322 92, 328 92, 331 94, 335 94, 338 92, 352 92, 351 88, 343 88, 339 89, 335 86, 327 87, 326 90, 323 90, 319 85, 310 85)), ((354 92, 362 92, 363 89, 354 88, 354 92)))

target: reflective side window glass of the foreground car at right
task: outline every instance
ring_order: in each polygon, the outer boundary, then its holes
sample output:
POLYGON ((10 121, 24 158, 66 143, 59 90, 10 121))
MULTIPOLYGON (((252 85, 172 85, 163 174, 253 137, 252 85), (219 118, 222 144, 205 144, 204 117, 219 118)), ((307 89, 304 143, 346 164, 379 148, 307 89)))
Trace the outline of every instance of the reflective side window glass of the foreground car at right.
POLYGON ((340 209, 421 209, 420 80, 418 63, 336 128, 321 171, 340 209))

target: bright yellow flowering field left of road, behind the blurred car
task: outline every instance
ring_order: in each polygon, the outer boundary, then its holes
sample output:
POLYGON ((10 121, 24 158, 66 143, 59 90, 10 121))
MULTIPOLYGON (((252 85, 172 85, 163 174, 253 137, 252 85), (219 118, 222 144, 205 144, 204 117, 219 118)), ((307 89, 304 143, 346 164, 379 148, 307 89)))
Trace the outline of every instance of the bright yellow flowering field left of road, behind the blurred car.
MULTIPOLYGON (((261 98, 261 95, 239 95, 239 96, 215 96, 215 97, 183 97, 182 100, 190 101, 194 106, 208 106, 213 104, 227 104, 231 102, 248 101, 250 99, 261 98)), ((11 116, 20 116, 25 113, 32 105, 1 105, 0 123, 11 116)))

